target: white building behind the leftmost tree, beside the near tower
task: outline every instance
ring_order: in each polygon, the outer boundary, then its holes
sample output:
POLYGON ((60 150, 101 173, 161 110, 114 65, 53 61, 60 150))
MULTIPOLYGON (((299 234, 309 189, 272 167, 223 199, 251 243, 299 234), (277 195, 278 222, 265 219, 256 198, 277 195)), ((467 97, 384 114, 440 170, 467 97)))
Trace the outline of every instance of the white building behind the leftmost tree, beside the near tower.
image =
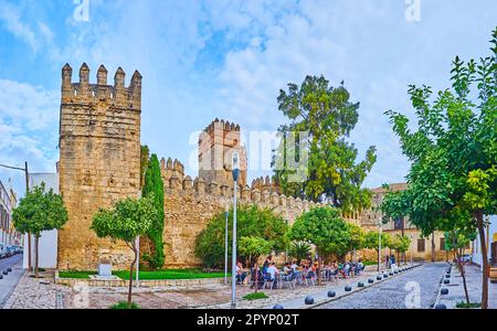
MULTIPOLYGON (((46 190, 52 189, 54 193, 59 194, 59 175, 56 173, 31 173, 29 178, 30 188, 45 183, 46 190)), ((59 232, 56 229, 42 232, 39 241, 39 267, 40 268, 56 268, 57 267, 57 239, 59 232)), ((35 261, 34 236, 31 237, 31 265, 35 261)), ((24 236, 24 256, 23 268, 29 266, 28 254, 28 234, 24 236)))

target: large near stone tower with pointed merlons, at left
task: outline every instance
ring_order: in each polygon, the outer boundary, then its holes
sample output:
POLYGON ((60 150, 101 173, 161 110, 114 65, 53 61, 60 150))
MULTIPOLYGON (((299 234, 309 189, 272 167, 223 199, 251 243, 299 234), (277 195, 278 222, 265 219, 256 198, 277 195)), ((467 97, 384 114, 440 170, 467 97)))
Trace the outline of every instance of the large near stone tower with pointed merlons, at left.
POLYGON ((59 233, 60 269, 95 269, 99 260, 128 268, 131 260, 124 243, 99 239, 89 229, 98 207, 137 197, 140 183, 141 75, 136 71, 125 86, 119 67, 114 86, 101 65, 97 84, 89 84, 89 68, 80 68, 80 83, 72 83, 72 68, 62 68, 60 120, 60 192, 68 222, 59 233))

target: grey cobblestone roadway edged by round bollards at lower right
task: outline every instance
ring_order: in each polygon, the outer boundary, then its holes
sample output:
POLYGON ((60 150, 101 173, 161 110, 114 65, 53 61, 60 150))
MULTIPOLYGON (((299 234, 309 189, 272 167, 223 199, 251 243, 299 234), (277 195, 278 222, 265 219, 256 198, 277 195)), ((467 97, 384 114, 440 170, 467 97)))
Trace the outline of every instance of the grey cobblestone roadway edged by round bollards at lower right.
POLYGON ((425 264, 391 280, 318 307, 319 309, 430 309, 446 263, 425 264), (408 302, 408 305, 406 305, 408 302))

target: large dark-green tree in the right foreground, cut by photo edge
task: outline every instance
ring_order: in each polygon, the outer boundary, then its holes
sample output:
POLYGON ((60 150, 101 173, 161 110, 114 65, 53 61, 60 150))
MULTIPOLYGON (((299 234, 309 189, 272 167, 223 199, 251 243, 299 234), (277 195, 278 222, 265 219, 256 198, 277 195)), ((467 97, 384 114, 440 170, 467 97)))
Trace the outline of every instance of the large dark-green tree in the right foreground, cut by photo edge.
MULTIPOLYGON (((484 214, 497 212, 497 29, 491 55, 478 62, 453 62, 452 89, 410 86, 417 128, 405 115, 385 114, 411 161, 409 188, 398 193, 405 213, 423 234, 457 228, 461 221, 478 228, 483 254, 482 308, 488 307, 488 257, 484 214), (476 88, 475 88, 476 87, 476 88)), ((464 228, 466 226, 463 226, 464 228)))

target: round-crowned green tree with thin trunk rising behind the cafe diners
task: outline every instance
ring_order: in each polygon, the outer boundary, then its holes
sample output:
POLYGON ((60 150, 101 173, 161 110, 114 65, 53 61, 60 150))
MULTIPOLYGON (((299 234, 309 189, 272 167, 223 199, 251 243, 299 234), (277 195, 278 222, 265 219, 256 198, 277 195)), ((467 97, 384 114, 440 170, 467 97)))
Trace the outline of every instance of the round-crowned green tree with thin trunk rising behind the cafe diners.
MULTIPOLYGON (((302 214, 292 226, 288 237, 293 241, 306 242, 316 246, 319 256, 335 254, 343 256, 350 249, 351 234, 349 224, 341 217, 340 210, 332 207, 315 207, 302 214)), ((320 284, 320 277, 318 277, 320 284)))

